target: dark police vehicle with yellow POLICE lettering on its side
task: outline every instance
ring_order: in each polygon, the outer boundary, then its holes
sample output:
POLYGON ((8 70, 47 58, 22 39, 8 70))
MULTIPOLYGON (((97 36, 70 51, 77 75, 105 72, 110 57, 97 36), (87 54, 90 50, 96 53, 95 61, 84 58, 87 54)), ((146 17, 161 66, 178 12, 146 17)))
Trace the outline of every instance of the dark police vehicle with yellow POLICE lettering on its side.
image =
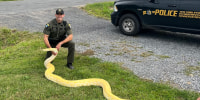
POLYGON ((200 0, 118 0, 111 21, 126 35, 143 28, 200 33, 200 0))

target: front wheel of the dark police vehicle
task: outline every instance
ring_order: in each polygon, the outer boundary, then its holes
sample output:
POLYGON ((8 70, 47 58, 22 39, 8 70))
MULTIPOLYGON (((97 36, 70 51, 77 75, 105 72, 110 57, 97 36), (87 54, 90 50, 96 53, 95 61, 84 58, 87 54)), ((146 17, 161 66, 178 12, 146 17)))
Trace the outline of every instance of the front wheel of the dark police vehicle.
POLYGON ((135 15, 126 14, 119 20, 119 29, 125 35, 136 35, 140 31, 140 23, 135 15))

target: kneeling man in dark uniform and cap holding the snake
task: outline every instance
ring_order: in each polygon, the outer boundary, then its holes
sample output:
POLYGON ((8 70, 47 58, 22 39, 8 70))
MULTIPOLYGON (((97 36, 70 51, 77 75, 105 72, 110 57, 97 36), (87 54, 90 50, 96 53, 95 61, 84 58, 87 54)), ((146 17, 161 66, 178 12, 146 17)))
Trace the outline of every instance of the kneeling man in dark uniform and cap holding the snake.
MULTIPOLYGON (((74 62, 74 51, 75 43, 72 41, 73 34, 71 26, 63 20, 65 14, 63 9, 59 8, 56 10, 56 18, 51 20, 44 28, 44 43, 48 48, 57 48, 59 51, 60 47, 68 48, 67 56, 67 67, 74 69, 72 63, 74 62)), ((47 52, 46 59, 51 55, 56 55, 55 52, 47 52)))

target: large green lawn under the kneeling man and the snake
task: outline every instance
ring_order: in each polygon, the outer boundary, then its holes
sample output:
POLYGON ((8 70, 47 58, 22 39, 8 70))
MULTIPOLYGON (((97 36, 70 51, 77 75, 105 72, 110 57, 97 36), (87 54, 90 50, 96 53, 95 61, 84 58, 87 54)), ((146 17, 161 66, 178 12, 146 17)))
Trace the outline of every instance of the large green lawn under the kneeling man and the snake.
MULTIPOLYGON (((70 88, 44 77, 46 52, 42 33, 0 29, 0 100, 105 100, 102 88, 96 86, 70 88), (12 36, 10 36, 10 34, 12 36), (6 44, 4 44, 6 43, 6 44)), ((66 49, 62 48, 53 62, 55 74, 67 80, 102 78, 112 92, 130 100, 195 100, 200 94, 181 91, 135 76, 119 64, 97 58, 75 55, 75 69, 65 67, 66 49)))

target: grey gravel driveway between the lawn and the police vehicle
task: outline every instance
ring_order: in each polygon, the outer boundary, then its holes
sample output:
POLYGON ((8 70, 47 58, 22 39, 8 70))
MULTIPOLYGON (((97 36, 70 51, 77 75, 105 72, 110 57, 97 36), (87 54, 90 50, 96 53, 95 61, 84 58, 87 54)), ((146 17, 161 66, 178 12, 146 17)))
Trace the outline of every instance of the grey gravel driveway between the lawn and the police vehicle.
MULTIPOLYGON (((0 26, 42 32, 64 8, 72 25, 76 50, 122 64, 137 76, 200 92, 200 36, 146 31, 137 37, 120 34, 110 21, 86 14, 76 6, 113 0, 24 0, 0 2, 0 26)), ((128 77, 128 76, 127 76, 128 77)))

